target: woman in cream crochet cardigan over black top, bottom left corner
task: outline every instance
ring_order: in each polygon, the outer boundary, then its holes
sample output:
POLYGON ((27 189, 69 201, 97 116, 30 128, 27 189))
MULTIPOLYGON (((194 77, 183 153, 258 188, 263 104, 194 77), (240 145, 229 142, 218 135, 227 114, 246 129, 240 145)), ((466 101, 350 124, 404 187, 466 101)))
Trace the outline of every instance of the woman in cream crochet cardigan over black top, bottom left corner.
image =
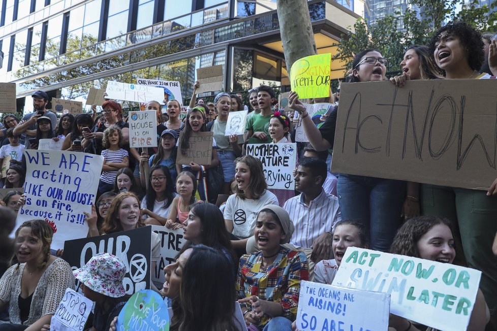
POLYGON ((66 289, 74 289, 71 266, 50 255, 52 237, 52 227, 40 219, 17 228, 18 263, 0 279, 0 310, 9 305, 10 323, 1 323, 0 330, 40 330, 50 323, 66 289))

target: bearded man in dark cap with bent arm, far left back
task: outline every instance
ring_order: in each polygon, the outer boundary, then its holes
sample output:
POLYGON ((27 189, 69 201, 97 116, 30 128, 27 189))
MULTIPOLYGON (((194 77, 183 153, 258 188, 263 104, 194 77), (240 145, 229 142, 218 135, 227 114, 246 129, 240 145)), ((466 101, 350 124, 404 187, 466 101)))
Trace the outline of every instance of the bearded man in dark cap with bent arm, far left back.
POLYGON ((34 112, 24 115, 19 124, 14 129, 14 135, 19 136, 26 134, 26 141, 36 137, 36 120, 41 116, 50 118, 52 128, 57 127, 57 116, 46 109, 50 97, 44 91, 36 91, 33 93, 33 108, 34 112), (40 112, 40 114, 38 114, 40 112), (43 115, 41 114, 43 112, 43 115))

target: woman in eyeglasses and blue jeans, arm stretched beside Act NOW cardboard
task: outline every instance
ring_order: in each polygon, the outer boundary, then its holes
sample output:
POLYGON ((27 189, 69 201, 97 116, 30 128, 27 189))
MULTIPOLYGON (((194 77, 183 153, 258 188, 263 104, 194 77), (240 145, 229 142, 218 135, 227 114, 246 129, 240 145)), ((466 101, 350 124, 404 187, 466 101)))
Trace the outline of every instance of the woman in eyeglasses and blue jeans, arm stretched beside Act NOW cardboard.
MULTIPOLYGON (((352 62, 349 82, 383 81, 387 65, 388 61, 374 49, 359 52, 352 62)), ((336 111, 318 129, 298 100, 297 93, 290 93, 289 102, 290 107, 300 113, 302 126, 314 148, 317 151, 333 148, 336 111)), ((367 107, 367 101, 363 100, 363 105, 367 107)), ((388 251, 400 226, 399 215, 406 197, 406 182, 340 174, 337 191, 342 219, 363 222, 369 230, 371 249, 388 251)))

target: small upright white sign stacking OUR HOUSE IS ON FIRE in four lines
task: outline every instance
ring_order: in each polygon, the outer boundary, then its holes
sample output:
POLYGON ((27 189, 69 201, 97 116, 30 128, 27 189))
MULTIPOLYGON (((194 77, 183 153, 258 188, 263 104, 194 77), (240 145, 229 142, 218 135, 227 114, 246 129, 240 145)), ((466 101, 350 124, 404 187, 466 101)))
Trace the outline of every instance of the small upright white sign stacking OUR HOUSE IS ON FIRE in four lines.
POLYGON ((130 147, 157 147, 157 113, 154 110, 130 112, 130 147))

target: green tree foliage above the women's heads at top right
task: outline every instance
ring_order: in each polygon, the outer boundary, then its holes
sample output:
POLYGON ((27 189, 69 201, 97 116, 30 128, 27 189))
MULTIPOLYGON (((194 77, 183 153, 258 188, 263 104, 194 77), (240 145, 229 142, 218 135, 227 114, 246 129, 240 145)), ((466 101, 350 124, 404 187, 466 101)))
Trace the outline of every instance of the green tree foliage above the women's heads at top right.
POLYGON ((429 37, 439 27, 450 21, 465 21, 480 31, 497 30, 497 0, 490 5, 479 8, 478 0, 472 0, 469 5, 463 5, 463 0, 411 0, 417 11, 407 9, 403 13, 396 12, 395 16, 386 16, 376 21, 374 26, 367 27, 363 19, 354 24, 355 33, 343 35, 338 44, 338 54, 334 58, 348 58, 348 68, 351 67, 354 54, 375 48, 383 57, 388 59, 388 72, 400 71, 400 62, 405 50, 411 45, 426 45, 429 37), (462 9, 456 13, 456 7, 462 9), (421 18, 420 18, 421 16, 421 18), (400 19, 403 29, 400 29, 400 19))

